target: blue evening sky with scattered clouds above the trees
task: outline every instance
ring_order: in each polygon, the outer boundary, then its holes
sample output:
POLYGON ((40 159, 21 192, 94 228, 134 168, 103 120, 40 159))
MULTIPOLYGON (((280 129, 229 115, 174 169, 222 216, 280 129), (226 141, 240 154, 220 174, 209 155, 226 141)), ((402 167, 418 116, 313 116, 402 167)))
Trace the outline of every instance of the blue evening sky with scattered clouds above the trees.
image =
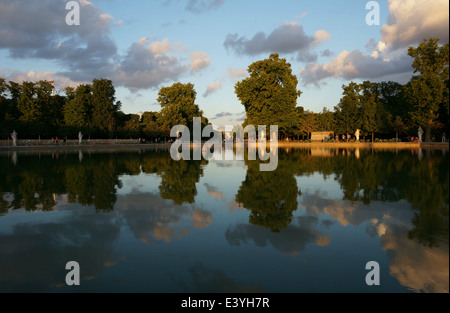
POLYGON ((159 111, 161 87, 190 82, 219 127, 242 123, 234 86, 271 53, 291 64, 297 105, 321 112, 350 81, 407 82, 408 47, 449 38, 448 0, 78 0, 79 25, 67 24, 67 2, 0 0, 0 77, 55 81, 61 95, 111 79, 134 114, 159 111))

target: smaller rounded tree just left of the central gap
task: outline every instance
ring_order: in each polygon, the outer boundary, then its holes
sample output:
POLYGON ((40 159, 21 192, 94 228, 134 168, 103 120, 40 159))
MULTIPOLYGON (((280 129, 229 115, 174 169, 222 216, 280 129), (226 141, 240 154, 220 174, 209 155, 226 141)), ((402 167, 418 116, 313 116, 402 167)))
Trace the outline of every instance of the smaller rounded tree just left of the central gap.
POLYGON ((186 125, 192 130, 194 117, 202 117, 203 111, 195 104, 197 92, 191 83, 175 83, 162 87, 157 101, 161 105, 158 123, 170 130, 175 125, 186 125))

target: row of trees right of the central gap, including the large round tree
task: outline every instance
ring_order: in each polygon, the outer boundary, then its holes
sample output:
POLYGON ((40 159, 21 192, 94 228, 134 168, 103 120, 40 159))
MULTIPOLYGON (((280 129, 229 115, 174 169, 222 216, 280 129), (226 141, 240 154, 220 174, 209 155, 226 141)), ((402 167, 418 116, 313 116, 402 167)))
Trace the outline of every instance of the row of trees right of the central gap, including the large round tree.
MULTIPOLYGON (((278 125, 283 136, 308 136, 312 131, 353 134, 357 129, 374 140, 399 135, 417 136, 425 129, 425 140, 432 133, 442 134, 449 126, 449 45, 439 39, 424 40, 408 54, 414 59, 414 73, 406 85, 388 81, 350 82, 334 111, 320 113, 297 106, 301 91, 291 65, 278 54, 249 66, 249 77, 235 85, 235 93, 247 113, 244 126, 278 125)), ((439 137, 440 138, 440 137, 439 137)))

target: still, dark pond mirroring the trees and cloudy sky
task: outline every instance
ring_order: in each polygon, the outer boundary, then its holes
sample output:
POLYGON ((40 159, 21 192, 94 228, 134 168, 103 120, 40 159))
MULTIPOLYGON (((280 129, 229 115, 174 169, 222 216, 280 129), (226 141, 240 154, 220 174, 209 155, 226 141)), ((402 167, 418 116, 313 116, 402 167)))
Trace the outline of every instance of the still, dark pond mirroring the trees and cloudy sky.
POLYGON ((234 153, 0 154, 0 292, 449 292, 448 150, 234 153))

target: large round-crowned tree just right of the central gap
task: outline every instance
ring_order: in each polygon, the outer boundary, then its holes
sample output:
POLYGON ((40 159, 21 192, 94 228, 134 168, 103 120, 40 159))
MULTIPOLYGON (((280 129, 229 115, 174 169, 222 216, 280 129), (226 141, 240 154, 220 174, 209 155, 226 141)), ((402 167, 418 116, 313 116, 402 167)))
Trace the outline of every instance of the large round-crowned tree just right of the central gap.
POLYGON ((235 85, 235 93, 245 108, 246 125, 278 125, 280 132, 288 132, 297 123, 295 107, 301 91, 292 74, 291 64, 273 53, 268 59, 248 67, 250 77, 235 85))

